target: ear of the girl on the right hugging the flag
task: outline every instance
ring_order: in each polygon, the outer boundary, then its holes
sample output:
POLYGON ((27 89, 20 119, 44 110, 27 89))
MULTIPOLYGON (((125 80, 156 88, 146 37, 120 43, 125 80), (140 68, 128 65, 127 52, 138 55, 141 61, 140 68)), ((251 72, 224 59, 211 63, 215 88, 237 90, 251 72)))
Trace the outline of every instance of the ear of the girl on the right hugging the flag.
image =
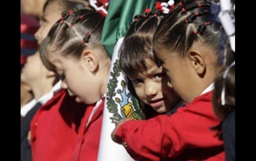
POLYGON ((189 59, 191 61, 192 67, 194 68, 195 72, 200 77, 203 77, 205 74, 205 70, 206 70, 205 58, 204 58, 203 54, 197 50, 190 50, 188 56, 189 56, 189 59))

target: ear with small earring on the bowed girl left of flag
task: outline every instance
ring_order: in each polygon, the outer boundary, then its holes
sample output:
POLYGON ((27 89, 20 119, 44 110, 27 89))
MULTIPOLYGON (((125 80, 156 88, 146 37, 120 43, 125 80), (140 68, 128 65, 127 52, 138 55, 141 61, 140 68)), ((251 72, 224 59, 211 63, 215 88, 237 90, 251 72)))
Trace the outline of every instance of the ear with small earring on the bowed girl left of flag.
POLYGON ((92 50, 84 50, 81 55, 81 60, 85 62, 85 65, 88 67, 92 74, 97 72, 99 66, 98 59, 92 50))

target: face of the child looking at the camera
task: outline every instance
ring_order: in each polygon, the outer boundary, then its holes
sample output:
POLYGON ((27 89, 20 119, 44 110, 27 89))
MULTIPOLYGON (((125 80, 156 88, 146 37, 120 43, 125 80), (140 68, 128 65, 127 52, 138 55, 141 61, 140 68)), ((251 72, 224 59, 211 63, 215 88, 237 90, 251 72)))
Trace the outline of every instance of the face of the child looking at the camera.
POLYGON ((168 76, 162 67, 150 59, 146 59, 147 71, 138 73, 131 78, 136 94, 145 104, 151 106, 158 113, 169 111, 178 101, 179 97, 174 90, 167 86, 168 76))

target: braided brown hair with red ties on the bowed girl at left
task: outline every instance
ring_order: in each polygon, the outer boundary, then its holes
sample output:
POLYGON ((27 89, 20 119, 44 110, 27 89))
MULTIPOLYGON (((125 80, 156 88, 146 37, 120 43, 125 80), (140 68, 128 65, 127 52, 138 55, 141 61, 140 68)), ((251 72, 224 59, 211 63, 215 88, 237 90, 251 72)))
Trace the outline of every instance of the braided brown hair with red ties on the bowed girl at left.
POLYGON ((45 66, 55 71, 48 54, 61 54, 79 59, 85 48, 101 47, 104 16, 91 10, 75 8, 62 13, 40 46, 40 56, 45 66))

